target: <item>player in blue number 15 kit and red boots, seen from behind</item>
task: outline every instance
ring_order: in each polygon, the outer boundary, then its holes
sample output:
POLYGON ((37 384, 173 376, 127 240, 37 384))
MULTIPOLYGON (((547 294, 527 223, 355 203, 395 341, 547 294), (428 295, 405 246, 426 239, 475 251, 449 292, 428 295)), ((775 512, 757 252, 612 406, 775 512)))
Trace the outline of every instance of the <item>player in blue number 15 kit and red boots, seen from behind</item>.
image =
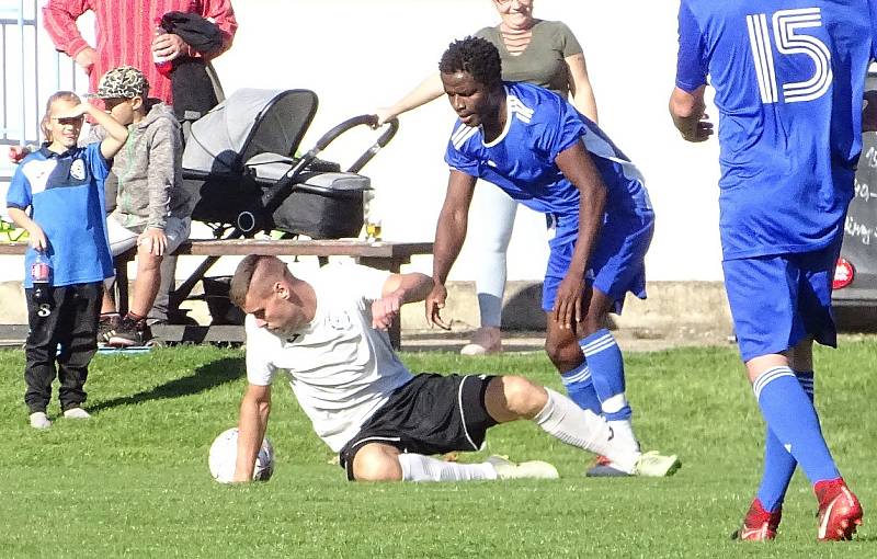
POLYGON ((796 465, 819 501, 819 539, 848 539, 862 506, 812 404, 812 342, 836 343, 831 282, 861 150, 863 88, 877 55, 875 1, 682 0, 682 136, 719 110, 722 269, 740 354, 767 423, 764 474, 740 539, 776 536, 796 465))

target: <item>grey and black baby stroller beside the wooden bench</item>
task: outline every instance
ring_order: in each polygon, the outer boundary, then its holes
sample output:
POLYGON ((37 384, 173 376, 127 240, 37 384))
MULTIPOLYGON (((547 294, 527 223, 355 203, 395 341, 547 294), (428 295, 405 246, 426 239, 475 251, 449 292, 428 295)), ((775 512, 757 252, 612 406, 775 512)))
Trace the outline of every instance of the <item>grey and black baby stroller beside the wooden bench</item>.
MULTIPOLYGON (((341 171, 317 155, 345 132, 373 126, 374 117, 344 121, 296 156, 317 104, 309 90, 242 89, 193 123, 183 152, 183 179, 195 201, 192 219, 206 224, 216 239, 272 230, 284 238, 358 236, 371 182, 357 173, 392 139, 399 124, 387 123, 375 144, 341 171)), ((217 260, 205 259, 171 294, 170 309, 190 298, 217 260)), ((208 282, 204 283, 206 290, 208 282)))

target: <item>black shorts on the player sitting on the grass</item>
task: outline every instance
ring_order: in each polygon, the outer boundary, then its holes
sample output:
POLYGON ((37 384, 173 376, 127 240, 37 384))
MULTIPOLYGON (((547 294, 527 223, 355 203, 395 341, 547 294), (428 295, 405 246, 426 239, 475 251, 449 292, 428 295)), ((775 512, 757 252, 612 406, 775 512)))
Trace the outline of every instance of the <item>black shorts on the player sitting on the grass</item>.
POLYGON ((485 407, 492 378, 424 373, 397 388, 339 453, 348 479, 353 480, 356 452, 368 443, 425 455, 478 450, 497 424, 485 407))

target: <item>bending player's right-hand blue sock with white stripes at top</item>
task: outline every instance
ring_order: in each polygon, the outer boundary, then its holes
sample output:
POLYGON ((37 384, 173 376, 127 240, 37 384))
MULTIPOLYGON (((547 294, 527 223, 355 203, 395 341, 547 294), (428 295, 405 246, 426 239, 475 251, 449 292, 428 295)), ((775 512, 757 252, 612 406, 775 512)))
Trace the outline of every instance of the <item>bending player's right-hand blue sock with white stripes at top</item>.
POLYGON ((612 332, 597 330, 579 345, 591 369, 603 415, 610 421, 630 419, 630 404, 624 395, 624 360, 612 332))

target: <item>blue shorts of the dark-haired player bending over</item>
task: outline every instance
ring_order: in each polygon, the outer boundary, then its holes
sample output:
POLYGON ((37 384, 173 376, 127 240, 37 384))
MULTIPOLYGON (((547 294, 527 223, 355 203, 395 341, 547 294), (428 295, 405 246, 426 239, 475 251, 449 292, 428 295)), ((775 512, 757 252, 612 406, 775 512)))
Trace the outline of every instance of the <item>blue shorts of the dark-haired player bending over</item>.
MULTIPOLYGON (((646 252, 654 232, 654 214, 607 215, 600 229, 596 247, 585 271, 585 280, 615 301, 613 312, 620 315, 627 292, 646 298, 646 252)), ((579 238, 576 216, 561 216, 555 238, 548 242, 551 253, 542 288, 542 308, 548 312, 555 305, 557 288, 572 262, 579 238)))

